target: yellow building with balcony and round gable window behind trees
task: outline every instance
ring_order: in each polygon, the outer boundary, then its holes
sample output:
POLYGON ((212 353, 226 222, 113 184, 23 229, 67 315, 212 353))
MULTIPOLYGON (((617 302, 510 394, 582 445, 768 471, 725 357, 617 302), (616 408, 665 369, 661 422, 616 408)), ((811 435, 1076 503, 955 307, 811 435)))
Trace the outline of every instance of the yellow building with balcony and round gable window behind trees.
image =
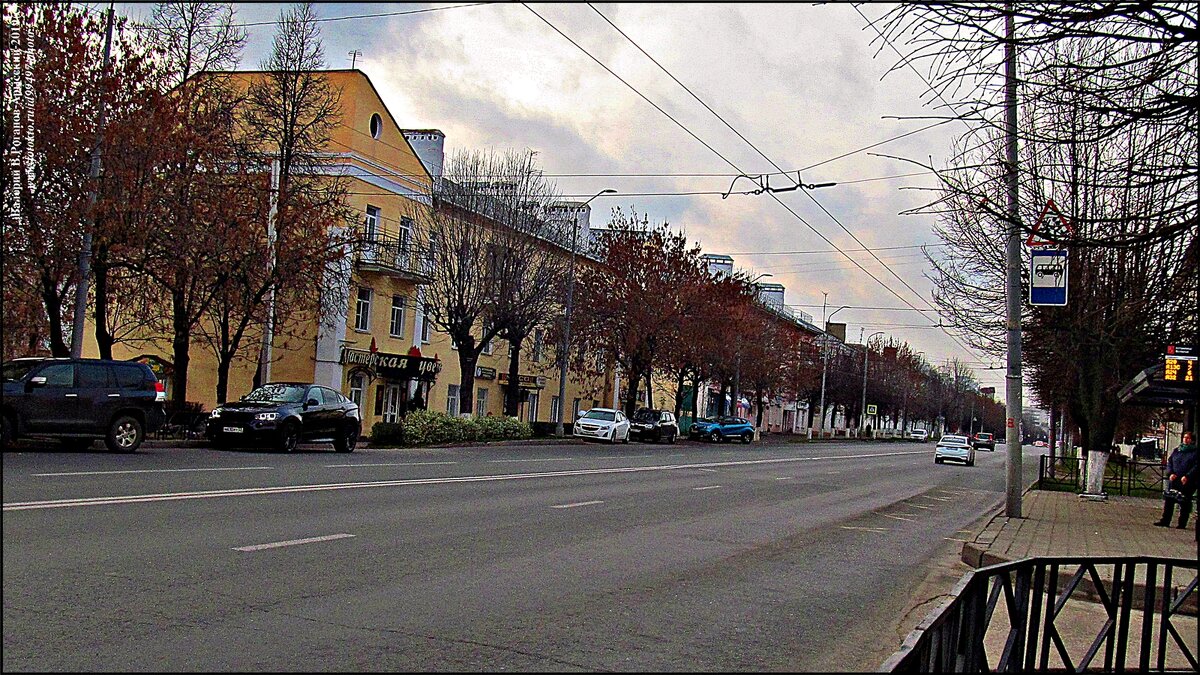
MULTIPOLYGON (((246 86, 259 72, 229 73, 246 86)), ((325 316, 300 340, 276 336, 270 347, 269 381, 316 382, 337 389, 359 404, 364 434, 377 422, 396 422, 407 411, 428 408, 476 416, 503 414, 508 383, 508 345, 497 340, 479 359, 472 411, 458 410, 458 359, 450 338, 433 329, 424 313, 422 285, 427 261, 416 241, 422 235, 421 214, 431 205, 432 185, 440 175, 445 136, 437 130, 403 130, 384 106, 371 80, 358 70, 329 71, 341 90, 341 124, 326 149, 323 169, 349 181, 348 203, 359 220, 365 244, 353 256, 349 279, 331 279, 347 287, 342 312, 325 316)), ((586 227, 587 207, 576 209, 586 227)), ((584 239, 586 240, 586 239, 584 239)), ((563 255, 569 255, 563 251, 563 255)), ((581 258, 583 259, 583 258, 581 258)), ((341 274, 331 268, 326 274, 341 274)), ((88 330, 84 356, 98 353, 88 330)), ((258 345, 258 336, 247 336, 258 345)), ((518 386, 526 392, 521 419, 556 422, 558 369, 552 347, 539 331, 527 340, 518 386)), ((248 350, 254 351, 254 350, 248 350)), ((140 358, 172 384, 170 336, 133 348, 114 346, 114 358, 140 358)), ((190 351, 187 398, 205 410, 216 405, 216 358, 199 341, 190 351)), ((229 399, 250 392, 257 362, 235 360, 229 376, 229 399)), ((613 383, 580 386, 568 378, 568 424, 577 410, 612 404, 613 383)))

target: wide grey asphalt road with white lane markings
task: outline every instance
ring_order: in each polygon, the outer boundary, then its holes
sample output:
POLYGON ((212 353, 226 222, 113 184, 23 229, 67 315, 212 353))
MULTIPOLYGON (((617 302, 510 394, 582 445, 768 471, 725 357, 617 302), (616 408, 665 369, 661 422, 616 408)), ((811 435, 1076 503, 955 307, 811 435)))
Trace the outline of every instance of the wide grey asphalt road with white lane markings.
POLYGON ((1003 503, 1003 461, 6 453, 4 670, 874 669, 930 566, 1003 503))

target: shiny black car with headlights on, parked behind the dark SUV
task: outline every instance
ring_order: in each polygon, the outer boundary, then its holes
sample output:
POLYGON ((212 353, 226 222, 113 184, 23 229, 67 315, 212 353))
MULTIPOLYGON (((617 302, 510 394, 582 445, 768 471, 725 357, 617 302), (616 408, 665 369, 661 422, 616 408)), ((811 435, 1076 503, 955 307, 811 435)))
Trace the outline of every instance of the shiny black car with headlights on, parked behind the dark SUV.
POLYGON ((329 387, 272 382, 217 406, 205 435, 217 447, 270 444, 292 453, 301 442, 353 453, 362 432, 359 406, 329 387))

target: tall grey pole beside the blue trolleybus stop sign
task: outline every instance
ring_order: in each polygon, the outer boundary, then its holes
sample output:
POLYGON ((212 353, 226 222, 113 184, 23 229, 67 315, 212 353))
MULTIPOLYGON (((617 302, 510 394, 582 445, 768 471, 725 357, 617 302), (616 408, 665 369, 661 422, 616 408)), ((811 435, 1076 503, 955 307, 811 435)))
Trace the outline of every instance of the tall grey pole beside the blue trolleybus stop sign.
POLYGON ((1014 44, 1013 2, 1004 2, 1004 136, 1008 166, 1008 374, 1007 429, 1008 462, 1004 515, 1021 518, 1021 237, 1016 180, 1016 44, 1014 44))

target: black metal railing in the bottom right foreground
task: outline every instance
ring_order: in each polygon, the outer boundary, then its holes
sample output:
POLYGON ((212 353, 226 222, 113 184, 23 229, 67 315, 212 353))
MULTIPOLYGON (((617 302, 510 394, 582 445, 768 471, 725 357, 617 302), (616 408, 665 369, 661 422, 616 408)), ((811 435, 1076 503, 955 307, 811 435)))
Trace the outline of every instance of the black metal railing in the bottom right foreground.
POLYGON ((1038 557, 984 567, 967 573, 880 671, 1195 673, 1196 595, 1195 560, 1038 557), (1099 623, 1094 635, 1076 614, 1080 603, 1099 623), (1080 633, 1081 625, 1088 629, 1080 633))

